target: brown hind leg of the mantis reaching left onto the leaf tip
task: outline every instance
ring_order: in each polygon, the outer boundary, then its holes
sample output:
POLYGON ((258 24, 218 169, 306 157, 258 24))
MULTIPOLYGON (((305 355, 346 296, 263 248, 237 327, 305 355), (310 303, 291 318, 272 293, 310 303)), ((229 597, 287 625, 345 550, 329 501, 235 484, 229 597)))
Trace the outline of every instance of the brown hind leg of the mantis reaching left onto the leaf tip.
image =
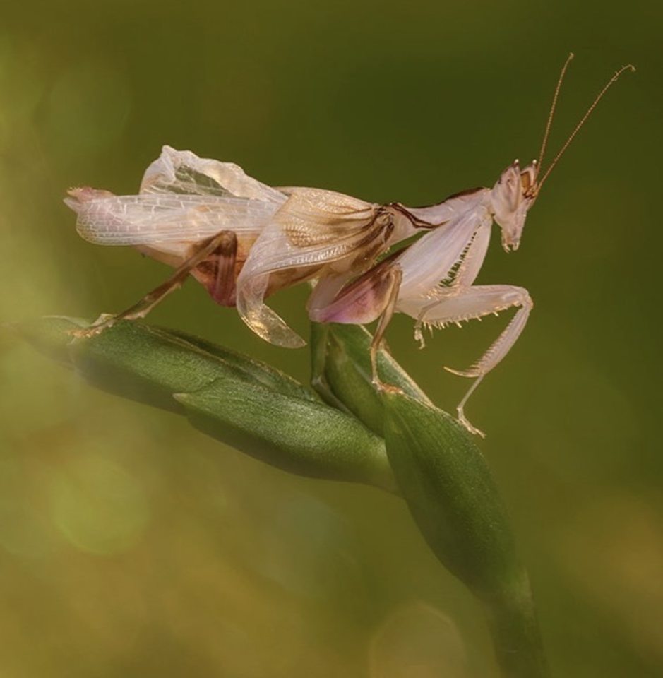
MULTIPOLYGON (((148 313, 155 307, 157 304, 165 299, 171 292, 179 289, 184 280, 189 276, 189 273, 199 266, 205 259, 212 256, 213 254, 217 256, 220 262, 232 259, 234 261, 235 255, 237 253, 237 237, 232 231, 221 231, 210 239, 206 239, 196 246, 193 254, 189 256, 184 263, 179 266, 174 273, 168 278, 164 283, 158 285, 153 290, 148 292, 139 302, 133 304, 125 311, 117 315, 112 314, 102 314, 95 323, 92 323, 90 327, 83 328, 80 330, 75 330, 72 332, 74 336, 77 337, 91 337, 97 334, 102 333, 104 330, 112 327, 115 323, 121 320, 138 320, 145 318, 148 313)), ((223 263, 220 263, 217 266, 217 282, 215 283, 215 290, 218 295, 225 296, 224 292, 220 289, 221 286, 227 285, 227 280, 229 278, 229 266, 225 266, 223 263), (218 289, 217 289, 218 288, 218 289)), ((231 283, 234 290, 234 275, 232 275, 231 283)), ((213 295, 215 296, 215 295, 213 295)))

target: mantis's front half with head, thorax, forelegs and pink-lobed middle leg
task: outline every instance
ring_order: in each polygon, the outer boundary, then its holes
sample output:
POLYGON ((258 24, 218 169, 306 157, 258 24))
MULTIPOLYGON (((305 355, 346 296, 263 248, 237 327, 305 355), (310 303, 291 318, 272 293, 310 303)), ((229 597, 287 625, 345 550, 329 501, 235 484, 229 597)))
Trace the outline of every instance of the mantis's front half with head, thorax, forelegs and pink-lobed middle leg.
POLYGON ((415 337, 423 346, 423 327, 460 325, 517 308, 506 329, 470 369, 446 368, 453 374, 475 379, 457 408, 458 420, 473 434, 483 436, 465 417, 465 404, 484 376, 501 362, 518 340, 533 306, 524 287, 474 285, 489 246, 492 223, 496 222, 501 228, 503 249, 507 252, 518 249, 527 213, 551 170, 608 88, 623 71, 635 70, 628 65, 615 73, 539 179, 557 97, 572 58, 573 54, 570 54, 560 73, 538 160, 524 168, 515 160, 492 189, 465 191, 431 207, 407 208, 415 220, 440 225, 359 278, 336 285, 333 293, 329 292, 334 287, 333 280, 321 280, 309 299, 309 316, 319 323, 365 324, 378 320, 371 345, 373 382, 378 388, 390 388, 378 377, 376 352, 395 312, 405 313, 417 321, 415 337))

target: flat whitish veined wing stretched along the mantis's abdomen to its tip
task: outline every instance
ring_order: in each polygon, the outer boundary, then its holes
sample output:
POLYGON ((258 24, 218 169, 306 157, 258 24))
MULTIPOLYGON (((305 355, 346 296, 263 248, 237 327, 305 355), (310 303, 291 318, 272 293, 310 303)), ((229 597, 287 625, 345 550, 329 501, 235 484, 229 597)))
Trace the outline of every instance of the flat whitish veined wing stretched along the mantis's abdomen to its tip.
POLYGON ((94 189, 72 189, 69 196, 78 233, 102 245, 196 242, 222 230, 257 236, 277 210, 274 203, 231 196, 114 196, 94 189))

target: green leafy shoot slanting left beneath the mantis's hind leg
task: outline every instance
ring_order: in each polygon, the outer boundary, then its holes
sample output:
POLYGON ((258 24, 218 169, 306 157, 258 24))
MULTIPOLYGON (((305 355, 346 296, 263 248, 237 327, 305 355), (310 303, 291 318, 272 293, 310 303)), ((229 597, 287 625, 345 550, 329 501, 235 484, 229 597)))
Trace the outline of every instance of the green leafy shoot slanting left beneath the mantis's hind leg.
POLYGON ((71 334, 84 325, 51 317, 15 329, 93 386, 186 414, 203 432, 277 468, 395 491, 383 440, 277 369, 138 323, 90 338, 71 334))

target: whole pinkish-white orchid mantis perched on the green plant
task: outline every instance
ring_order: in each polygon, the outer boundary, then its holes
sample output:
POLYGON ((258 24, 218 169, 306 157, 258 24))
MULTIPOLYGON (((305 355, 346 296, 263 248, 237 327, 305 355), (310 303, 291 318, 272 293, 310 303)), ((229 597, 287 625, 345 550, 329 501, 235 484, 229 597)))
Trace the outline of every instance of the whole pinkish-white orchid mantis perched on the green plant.
POLYGON ((523 287, 474 285, 492 222, 501 227, 504 249, 518 249, 527 211, 551 169, 605 91, 624 70, 635 70, 624 66, 611 78, 539 179, 559 88, 572 57, 557 83, 538 162, 520 169, 516 160, 492 189, 465 191, 434 206, 378 205, 323 189, 272 188, 237 165, 167 146, 148 167, 137 195, 72 189, 66 203, 78 213, 82 237, 97 244, 135 246, 176 268, 138 304, 117 316, 102 316, 78 334, 92 335, 118 319, 144 317, 193 275, 215 302, 237 306, 262 338, 300 347, 304 340, 265 304, 265 297, 311 280, 311 320, 364 324, 379 319, 371 345, 373 381, 390 388, 378 378, 376 352, 394 312, 417 321, 415 336, 423 343, 422 326, 460 324, 517 307, 507 328, 473 367, 450 370, 476 379, 458 406, 458 417, 480 434, 465 418, 465 403, 518 339, 532 309, 523 287), (380 261, 393 245, 419 231, 425 232, 420 239, 380 261))

